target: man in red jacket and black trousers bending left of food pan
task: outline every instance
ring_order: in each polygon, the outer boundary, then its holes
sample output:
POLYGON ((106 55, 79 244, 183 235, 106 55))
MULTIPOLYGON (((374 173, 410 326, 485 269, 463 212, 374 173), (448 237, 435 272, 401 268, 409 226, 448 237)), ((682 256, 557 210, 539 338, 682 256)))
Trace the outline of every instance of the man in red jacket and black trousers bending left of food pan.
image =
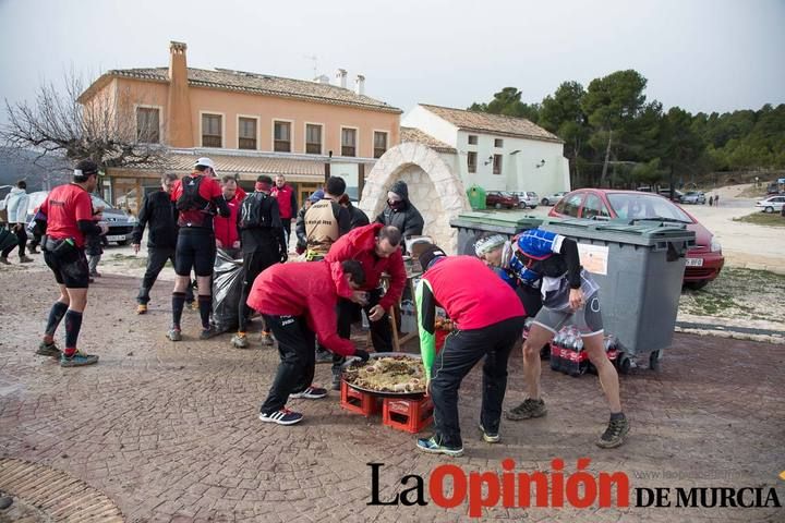
POLYGON ((311 386, 316 364, 314 338, 336 354, 367 361, 367 352, 338 337, 335 312, 338 297, 350 297, 364 281, 362 266, 355 260, 278 264, 256 278, 247 304, 262 313, 280 354, 278 372, 259 409, 261 421, 293 425, 303 416, 286 409, 289 398, 327 396, 325 389, 311 386))

